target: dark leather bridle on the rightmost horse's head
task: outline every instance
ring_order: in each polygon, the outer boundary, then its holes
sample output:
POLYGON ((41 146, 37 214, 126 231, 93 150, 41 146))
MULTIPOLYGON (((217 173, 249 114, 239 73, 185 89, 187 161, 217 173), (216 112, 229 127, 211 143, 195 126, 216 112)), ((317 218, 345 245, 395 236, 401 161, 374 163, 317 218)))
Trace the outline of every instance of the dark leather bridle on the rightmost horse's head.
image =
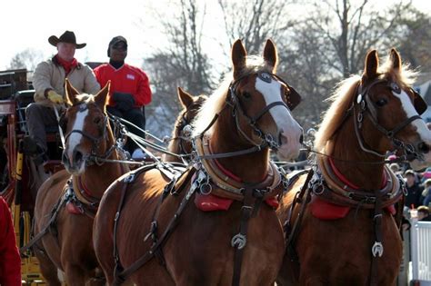
MULTIPOLYGON (((378 123, 377 114, 376 114, 376 105, 371 101, 369 96, 369 91, 376 84, 382 84, 382 83, 386 84, 386 87, 389 88, 393 93, 400 94, 402 91, 398 84, 386 79, 376 79, 371 84, 368 84, 366 86, 364 86, 363 84, 359 84, 357 87, 358 92, 356 96, 356 101, 354 100, 351 109, 353 109, 353 113, 354 113, 355 133, 356 133, 356 138, 359 143, 359 146, 366 153, 372 153, 381 158, 386 157, 386 153, 378 153, 377 151, 366 147, 365 140, 362 137, 360 130, 363 126, 365 115, 367 115, 367 117, 370 119, 371 123, 373 123, 376 129, 380 133, 383 133, 389 139, 389 141, 393 143, 396 150, 400 150, 403 153, 405 153, 406 158, 408 158, 409 160, 422 159, 423 157, 422 154, 417 152, 417 148, 414 144, 405 143, 404 141, 396 138, 396 133, 399 133, 404 128, 406 128, 406 126, 409 123, 412 123, 418 119, 422 120, 420 115, 416 114, 407 118, 403 122, 398 123, 396 127, 394 127, 391 130, 387 130, 384 126, 378 123), (357 112, 356 109, 359 109, 359 111, 357 112)), ((415 102, 417 100, 417 103, 415 103, 415 108, 417 113, 419 114, 424 113, 426 108, 424 109, 423 103, 420 102, 421 100, 423 101, 422 97, 419 94, 417 94, 413 89, 412 91, 415 94, 415 102)))

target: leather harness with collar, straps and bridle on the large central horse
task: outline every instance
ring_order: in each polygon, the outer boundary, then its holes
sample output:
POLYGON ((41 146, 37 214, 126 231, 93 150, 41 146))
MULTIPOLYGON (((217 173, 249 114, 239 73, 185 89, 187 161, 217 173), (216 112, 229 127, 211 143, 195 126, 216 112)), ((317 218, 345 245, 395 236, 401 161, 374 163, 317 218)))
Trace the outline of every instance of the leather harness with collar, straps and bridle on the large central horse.
MULTIPOLYGON (((275 74, 268 73, 258 73, 259 78, 266 81, 266 83, 270 83, 271 80, 281 80, 275 74)), ((153 215, 153 222, 150 226, 150 231, 145 236, 145 241, 148 239, 152 239, 152 246, 149 251, 146 251, 145 254, 132 263, 127 269, 124 269, 121 265, 117 243, 116 243, 116 235, 118 228, 118 221, 121 217, 121 211, 123 209, 123 204, 125 202, 125 195, 127 191, 127 186, 130 183, 135 182, 135 178, 139 176, 140 173, 144 173, 150 169, 157 168, 160 170, 159 165, 145 166, 136 170, 134 173, 131 173, 128 177, 126 177, 122 183, 122 191, 121 191, 121 199, 118 205, 117 212, 115 213, 115 221, 114 221, 114 259, 115 259, 115 285, 119 285, 124 282, 127 277, 129 277, 134 271, 141 268, 147 261, 150 261, 152 258, 156 257, 162 263, 165 264, 165 260, 163 258, 163 245, 165 241, 168 239, 169 235, 173 232, 176 223, 178 221, 179 216, 185 209, 185 205, 190 201, 190 198, 193 196, 195 192, 201 192, 203 194, 215 193, 221 197, 232 198, 236 201, 243 202, 243 206, 241 208, 241 221, 239 223, 239 229, 236 235, 231 240, 231 246, 235 248, 235 256, 234 256, 234 272, 233 272, 233 280, 232 285, 239 285, 240 277, 241 277, 241 265, 243 261, 243 253, 244 248, 246 246, 246 234, 248 230, 248 222, 249 219, 256 215, 261 202, 270 196, 276 196, 276 194, 283 192, 286 189, 287 182, 284 175, 280 174, 280 170, 276 168, 275 164, 270 163, 270 174, 266 176, 266 180, 264 182, 258 183, 238 183, 238 182, 226 182, 224 180, 221 173, 217 170, 216 165, 212 163, 213 159, 218 158, 226 158, 233 157, 238 155, 243 155, 247 153, 255 153, 261 151, 266 146, 269 146, 272 149, 277 149, 279 145, 274 141, 270 134, 264 133, 258 124, 256 123, 265 113, 267 113, 271 108, 282 105, 287 109, 289 108, 285 102, 276 102, 273 104, 267 105, 261 111, 256 113, 254 116, 249 116, 245 113, 241 104, 239 104, 239 100, 236 95, 236 88, 239 82, 244 77, 237 79, 229 85, 229 93, 226 97, 226 104, 222 108, 222 111, 227 107, 231 107, 232 116, 235 118, 236 129, 240 135, 246 138, 246 141, 253 144, 253 147, 247 148, 245 150, 240 150, 236 152, 229 153, 210 153, 207 147, 207 138, 205 138, 205 132, 214 124, 219 116, 219 113, 215 115, 211 123, 205 128, 205 130, 192 141, 195 154, 194 154, 194 166, 189 167, 185 173, 182 173, 179 177, 173 176, 171 182, 165 185, 164 191, 160 194, 160 200, 156 207, 155 213, 153 215), (244 116, 246 118, 246 122, 252 128, 252 130, 259 136, 261 139, 260 143, 256 143, 241 129, 239 124, 238 115, 244 116), (188 182, 192 179, 191 184, 188 182), (269 178, 269 179, 268 179, 269 178), (160 212, 160 208, 165 200, 165 197, 168 194, 178 194, 185 189, 185 186, 190 185, 188 191, 183 196, 182 201, 179 204, 178 209, 173 215, 172 219, 168 222, 165 232, 162 233, 160 238, 157 236, 157 217, 160 212)), ((285 83, 283 81, 283 83, 285 83)), ((286 83, 285 83, 286 84, 286 83)), ((286 84, 287 85, 287 84, 286 84)), ((288 85, 287 85, 288 86, 288 85)), ((292 88, 289 91, 289 94, 294 94, 294 89, 292 88)), ((295 92, 296 93, 296 92, 295 92)), ((289 95, 287 94, 287 95, 289 95)), ((286 96, 287 97, 287 96, 286 96)), ((291 108, 295 108, 296 104, 299 103, 300 97, 297 94, 292 96, 292 102, 288 102, 291 108)), ((221 113, 221 112, 220 112, 221 113)))

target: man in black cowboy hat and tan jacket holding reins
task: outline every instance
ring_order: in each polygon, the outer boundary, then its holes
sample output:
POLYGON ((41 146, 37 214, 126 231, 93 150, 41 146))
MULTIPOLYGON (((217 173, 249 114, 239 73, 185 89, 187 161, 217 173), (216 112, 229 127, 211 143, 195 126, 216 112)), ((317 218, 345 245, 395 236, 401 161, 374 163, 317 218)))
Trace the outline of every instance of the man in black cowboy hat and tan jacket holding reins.
MULTIPOLYGON (((61 108, 65 103, 65 78, 79 93, 96 94, 100 90, 91 68, 75 59, 75 49, 81 49, 86 44, 76 44, 74 32, 65 31, 60 37, 52 35, 48 42, 56 46, 57 54, 37 64, 33 75, 35 103, 25 110, 29 133, 29 137, 25 138, 25 149, 40 158, 47 151, 45 127, 58 125, 53 108, 61 108)), ((46 156, 42 162, 45 160, 46 156)))

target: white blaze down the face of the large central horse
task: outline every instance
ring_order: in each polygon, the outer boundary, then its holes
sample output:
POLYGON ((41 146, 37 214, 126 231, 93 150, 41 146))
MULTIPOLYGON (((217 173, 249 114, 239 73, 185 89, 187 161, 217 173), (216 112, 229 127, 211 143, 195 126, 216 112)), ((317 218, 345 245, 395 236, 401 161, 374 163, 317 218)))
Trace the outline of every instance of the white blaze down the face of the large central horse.
MULTIPOLYGON (((276 102, 283 102, 281 83, 272 79, 266 83, 259 77, 256 77, 256 90, 264 95, 266 106, 276 102)), ((281 133, 281 146, 279 154, 284 158, 294 158, 299 154, 301 148, 300 138, 302 136, 302 127, 293 118, 290 110, 283 105, 276 105, 269 109, 273 120, 276 123, 277 130, 281 133)), ((272 134, 274 140, 278 141, 279 134, 272 134)))

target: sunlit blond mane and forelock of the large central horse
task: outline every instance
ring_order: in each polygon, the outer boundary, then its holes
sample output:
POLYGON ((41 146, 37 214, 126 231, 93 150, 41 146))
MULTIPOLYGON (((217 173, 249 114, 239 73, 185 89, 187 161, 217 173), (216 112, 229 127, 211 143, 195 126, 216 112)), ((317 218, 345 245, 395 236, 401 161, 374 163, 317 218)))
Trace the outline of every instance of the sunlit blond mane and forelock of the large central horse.
MULTIPOLYGON (((262 56, 248 55, 246 56, 246 66, 240 71, 238 78, 256 74, 258 72, 273 73, 273 68, 273 66, 266 63, 262 56)), ((204 132, 205 128, 211 123, 216 113, 220 113, 220 111, 225 107, 228 88, 233 80, 234 78, 232 73, 226 74, 222 83, 218 88, 216 88, 213 94, 209 95, 205 104, 203 104, 199 109, 199 112, 192 123, 192 126, 194 127, 193 137, 204 132)), ((206 133, 211 134, 212 130, 213 128, 210 128, 206 133)))

